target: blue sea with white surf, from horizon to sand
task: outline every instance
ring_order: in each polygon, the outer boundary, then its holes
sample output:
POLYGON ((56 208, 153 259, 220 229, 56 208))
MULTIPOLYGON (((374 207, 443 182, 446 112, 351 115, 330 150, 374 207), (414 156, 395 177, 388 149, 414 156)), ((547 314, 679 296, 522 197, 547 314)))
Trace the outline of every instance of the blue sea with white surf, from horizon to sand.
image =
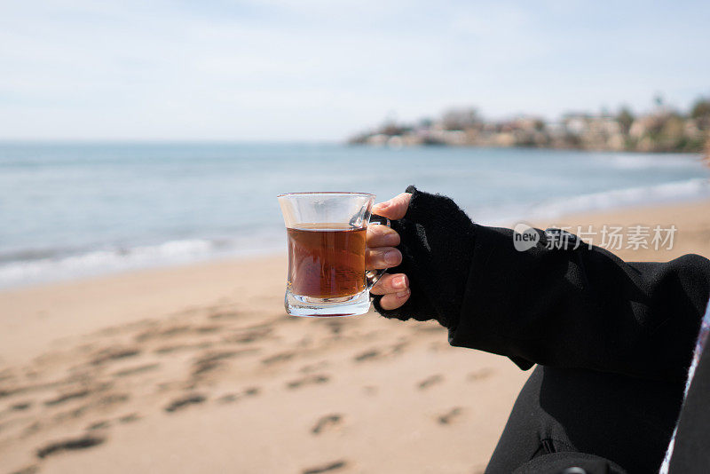
POLYGON ((310 144, 0 144, 0 287, 280 251, 276 194, 409 184, 485 224, 710 196, 697 155, 310 144))

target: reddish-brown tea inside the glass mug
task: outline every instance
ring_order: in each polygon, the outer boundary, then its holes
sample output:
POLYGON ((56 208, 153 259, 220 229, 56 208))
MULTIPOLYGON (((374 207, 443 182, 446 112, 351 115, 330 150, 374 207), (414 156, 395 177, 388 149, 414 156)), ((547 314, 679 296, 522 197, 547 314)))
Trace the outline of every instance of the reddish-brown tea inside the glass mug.
POLYGON ((292 293, 340 298, 365 290, 365 227, 299 224, 287 233, 288 289, 292 293))

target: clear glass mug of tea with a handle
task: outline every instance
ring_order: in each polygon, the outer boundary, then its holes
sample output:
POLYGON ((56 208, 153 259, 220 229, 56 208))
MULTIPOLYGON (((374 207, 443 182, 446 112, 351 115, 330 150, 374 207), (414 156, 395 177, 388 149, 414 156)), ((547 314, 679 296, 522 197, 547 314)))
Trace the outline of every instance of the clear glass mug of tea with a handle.
POLYGON ((375 194, 288 193, 277 198, 288 234, 286 312, 334 317, 369 311, 370 288, 385 270, 365 269, 367 225, 390 225, 389 219, 372 216, 375 194))

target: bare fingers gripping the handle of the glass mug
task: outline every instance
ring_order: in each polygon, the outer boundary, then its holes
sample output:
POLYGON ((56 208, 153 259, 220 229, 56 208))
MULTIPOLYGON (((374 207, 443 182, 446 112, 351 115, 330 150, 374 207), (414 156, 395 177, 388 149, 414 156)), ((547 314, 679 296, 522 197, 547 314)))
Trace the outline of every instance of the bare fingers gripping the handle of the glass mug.
MULTIPOLYGON (((372 211, 389 219, 405 217, 412 194, 402 193, 390 201, 375 204, 372 211)), ((390 268, 402 263, 402 254, 394 247, 399 245, 399 234, 386 225, 367 226, 367 249, 365 265, 367 270, 390 268)), ((384 295, 380 305, 385 310, 395 310, 406 303, 411 295, 409 279, 404 273, 385 273, 370 290, 374 295, 384 295)))

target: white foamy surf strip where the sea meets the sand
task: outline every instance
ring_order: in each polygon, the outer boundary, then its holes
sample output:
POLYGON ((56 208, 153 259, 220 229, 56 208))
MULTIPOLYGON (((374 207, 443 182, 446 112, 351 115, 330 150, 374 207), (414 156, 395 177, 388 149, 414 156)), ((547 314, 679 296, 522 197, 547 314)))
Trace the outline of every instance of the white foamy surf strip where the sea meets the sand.
MULTIPOLYGON (((682 205, 708 199, 710 181, 706 178, 692 178, 654 186, 582 194, 570 199, 540 201, 527 209, 521 205, 517 205, 515 209, 509 206, 499 206, 498 209, 470 209, 469 216, 482 225, 512 226, 528 220, 551 222, 566 216, 682 205)), ((9 261, 0 265, 0 293, 144 270, 275 257, 283 253, 283 245, 276 244, 281 238, 280 234, 277 237, 274 232, 264 233, 266 243, 263 241, 261 245, 256 245, 256 241, 244 241, 242 237, 237 236, 232 244, 234 249, 228 251, 219 249, 223 240, 213 241, 205 238, 170 240, 127 249, 93 249, 59 258, 9 261), (239 244, 235 243, 237 241, 239 244), (183 253, 175 253, 176 248, 183 253)))

